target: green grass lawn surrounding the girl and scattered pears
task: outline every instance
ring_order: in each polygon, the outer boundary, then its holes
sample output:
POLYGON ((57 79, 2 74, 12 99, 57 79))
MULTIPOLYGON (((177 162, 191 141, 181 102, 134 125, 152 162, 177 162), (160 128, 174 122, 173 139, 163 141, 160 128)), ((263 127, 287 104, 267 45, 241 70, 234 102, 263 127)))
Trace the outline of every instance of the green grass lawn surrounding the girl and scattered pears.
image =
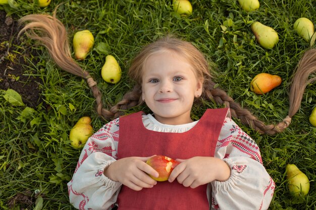
MULTIPOLYGON (((316 22, 312 0, 259 1, 260 8, 251 13, 242 11, 237 1, 191 1, 193 14, 181 18, 173 13, 171 1, 55 1, 46 8, 37 8, 27 1, 16 1, 16 9, 0 6, 8 15, 52 14, 63 3, 57 17, 68 29, 69 39, 78 30, 88 29, 95 38, 94 49, 80 65, 98 83, 105 104, 111 105, 133 87, 127 77, 132 58, 142 46, 165 34, 174 34, 191 41, 215 64, 214 80, 222 89, 249 108, 267 123, 281 121, 288 111, 288 89, 296 64, 309 49, 298 37, 293 24, 299 17, 316 22), (250 30, 253 21, 274 28, 280 41, 273 50, 260 47, 250 30), (223 27, 226 31, 223 31, 223 27), (100 48, 101 44, 105 48, 100 48), (123 71, 122 80, 111 85, 100 76, 107 54, 114 55, 123 71), (258 73, 282 77, 282 84, 265 95, 250 92, 249 83, 258 73)), ((16 36, 16 34, 15 34, 16 36)), ((80 154, 69 144, 69 131, 84 115, 91 116, 94 131, 105 122, 94 109, 94 98, 86 82, 59 69, 46 50, 22 37, 19 53, 33 47, 38 53, 24 66, 25 75, 42 81, 44 103, 30 114, 23 114, 25 106, 15 106, 0 95, 0 208, 9 209, 8 200, 29 191, 35 201, 35 190, 43 198, 42 209, 73 209, 68 201, 67 182, 70 180, 80 154), (36 63, 37 64, 33 64, 36 63)), ((298 113, 283 133, 258 134, 240 124, 257 142, 268 172, 276 182, 271 209, 316 208, 316 128, 308 116, 316 104, 315 86, 308 85, 298 113), (295 164, 310 180, 309 194, 299 200, 288 192, 285 182, 286 164, 295 164)), ((205 107, 219 107, 205 102, 205 107)), ((143 107, 136 107, 139 110, 143 107)), ((201 116, 194 109, 194 118, 201 116)), ((37 194, 38 195, 38 194, 37 194)), ((17 204, 15 209, 33 209, 33 204, 17 204)))

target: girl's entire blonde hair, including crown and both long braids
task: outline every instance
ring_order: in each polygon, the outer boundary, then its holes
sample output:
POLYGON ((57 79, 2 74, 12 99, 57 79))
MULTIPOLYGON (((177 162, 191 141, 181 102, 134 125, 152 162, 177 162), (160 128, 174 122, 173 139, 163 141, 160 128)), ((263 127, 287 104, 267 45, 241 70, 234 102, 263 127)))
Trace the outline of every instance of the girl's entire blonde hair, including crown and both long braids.
POLYGON ((201 99, 214 100, 216 103, 230 108, 233 117, 240 119, 243 124, 260 133, 276 134, 288 127, 291 123, 291 117, 300 107, 306 85, 316 80, 315 78, 308 80, 309 75, 316 72, 316 49, 310 49, 302 56, 292 79, 288 116, 277 125, 266 125, 253 116, 249 110, 242 108, 225 91, 215 88, 216 84, 212 81, 210 75, 212 69, 210 69, 204 55, 195 46, 187 41, 166 36, 145 46, 134 58, 129 68, 129 76, 136 84, 131 92, 126 93, 119 103, 108 110, 102 106, 101 92, 96 86, 96 82, 71 57, 67 32, 65 26, 56 18, 56 10, 53 16, 27 15, 19 20, 19 24, 23 23, 27 24, 21 29, 19 35, 25 32, 28 37, 40 41, 48 49, 51 58, 54 59, 57 65, 65 71, 87 80, 93 96, 96 98, 96 111, 107 120, 118 117, 122 113, 121 110, 127 110, 143 103, 141 99, 141 80, 144 64, 150 55, 161 50, 174 51, 191 63, 197 78, 203 79, 201 99))

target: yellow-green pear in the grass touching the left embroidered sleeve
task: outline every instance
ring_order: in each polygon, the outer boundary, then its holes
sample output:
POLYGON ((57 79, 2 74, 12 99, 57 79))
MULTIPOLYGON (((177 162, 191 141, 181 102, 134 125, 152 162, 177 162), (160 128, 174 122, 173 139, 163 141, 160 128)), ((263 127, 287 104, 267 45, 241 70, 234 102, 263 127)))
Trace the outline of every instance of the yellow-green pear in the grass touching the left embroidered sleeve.
POLYGON ((90 117, 81 117, 73 126, 69 133, 70 145, 76 149, 83 148, 88 138, 93 134, 93 128, 90 125, 90 117))

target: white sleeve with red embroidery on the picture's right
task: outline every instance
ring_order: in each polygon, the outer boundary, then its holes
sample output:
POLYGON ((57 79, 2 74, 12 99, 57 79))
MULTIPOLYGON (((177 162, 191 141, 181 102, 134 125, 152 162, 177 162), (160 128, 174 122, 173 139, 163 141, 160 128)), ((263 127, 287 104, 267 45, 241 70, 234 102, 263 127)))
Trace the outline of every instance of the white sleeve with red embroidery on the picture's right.
POLYGON ((229 165, 231 176, 211 183, 211 209, 268 209, 275 183, 256 143, 230 118, 225 119, 215 157, 229 165))

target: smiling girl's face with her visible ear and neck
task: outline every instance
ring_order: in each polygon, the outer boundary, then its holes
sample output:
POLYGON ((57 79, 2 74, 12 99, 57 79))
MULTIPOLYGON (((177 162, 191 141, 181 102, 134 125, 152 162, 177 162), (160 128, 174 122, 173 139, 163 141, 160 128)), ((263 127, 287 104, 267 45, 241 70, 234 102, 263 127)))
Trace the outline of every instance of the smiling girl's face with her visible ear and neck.
POLYGON ((164 124, 185 124, 190 117, 194 97, 202 93, 202 82, 193 67, 172 51, 148 57, 142 76, 142 99, 164 124))

